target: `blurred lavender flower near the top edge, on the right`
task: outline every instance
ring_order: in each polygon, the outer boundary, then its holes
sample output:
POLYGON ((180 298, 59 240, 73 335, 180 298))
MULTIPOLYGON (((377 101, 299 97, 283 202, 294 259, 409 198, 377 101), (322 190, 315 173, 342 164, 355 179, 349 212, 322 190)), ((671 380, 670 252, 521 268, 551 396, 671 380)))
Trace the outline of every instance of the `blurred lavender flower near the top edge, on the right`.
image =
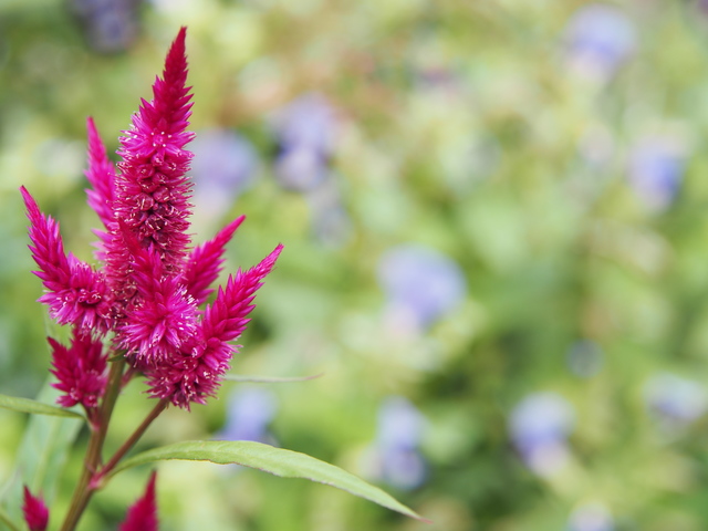
POLYGON ((634 23, 620 9, 604 3, 583 6, 565 28, 570 67, 585 77, 607 80, 636 48, 634 23))

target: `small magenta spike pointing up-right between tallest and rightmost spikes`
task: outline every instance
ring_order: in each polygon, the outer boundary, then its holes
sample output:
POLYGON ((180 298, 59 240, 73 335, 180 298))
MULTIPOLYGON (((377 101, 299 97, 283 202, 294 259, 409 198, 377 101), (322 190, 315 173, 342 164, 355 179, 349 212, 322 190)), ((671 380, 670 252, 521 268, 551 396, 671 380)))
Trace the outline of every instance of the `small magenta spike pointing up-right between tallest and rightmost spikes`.
POLYGON ((181 282, 197 305, 201 305, 214 292, 209 287, 217 280, 223 264, 223 251, 236 229, 243 222, 246 216, 241 216, 214 237, 214 239, 196 247, 189 257, 181 273, 181 282))

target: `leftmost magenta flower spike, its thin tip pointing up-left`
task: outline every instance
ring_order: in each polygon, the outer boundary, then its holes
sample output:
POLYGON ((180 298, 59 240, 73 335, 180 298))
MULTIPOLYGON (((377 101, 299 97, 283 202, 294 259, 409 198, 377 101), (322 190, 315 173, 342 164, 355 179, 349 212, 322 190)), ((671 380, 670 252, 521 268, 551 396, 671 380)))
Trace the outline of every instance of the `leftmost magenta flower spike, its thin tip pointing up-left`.
POLYGON ((59 225, 44 216, 24 187, 20 188, 30 219, 29 246, 40 270, 34 271, 48 292, 39 301, 48 304, 59 324, 72 323, 85 332, 107 330, 107 301, 103 277, 91 266, 66 256, 59 225))

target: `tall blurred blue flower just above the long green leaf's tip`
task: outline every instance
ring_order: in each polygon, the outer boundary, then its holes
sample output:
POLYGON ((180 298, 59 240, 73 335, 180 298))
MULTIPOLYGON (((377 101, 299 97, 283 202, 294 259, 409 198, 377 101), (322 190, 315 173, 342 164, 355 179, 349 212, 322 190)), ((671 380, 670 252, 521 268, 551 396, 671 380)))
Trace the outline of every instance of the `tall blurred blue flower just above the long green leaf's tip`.
POLYGON ((375 456, 379 479, 399 489, 415 489, 426 478, 418 451, 425 419, 406 398, 391 396, 378 410, 375 456))

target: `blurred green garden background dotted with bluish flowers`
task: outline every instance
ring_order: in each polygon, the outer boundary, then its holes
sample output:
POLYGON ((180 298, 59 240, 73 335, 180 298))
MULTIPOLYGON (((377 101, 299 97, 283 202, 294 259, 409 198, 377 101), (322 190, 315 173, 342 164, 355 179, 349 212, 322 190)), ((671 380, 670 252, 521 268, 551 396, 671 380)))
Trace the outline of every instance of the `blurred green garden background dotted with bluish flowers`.
MULTIPOLYGON (((323 376, 227 383, 142 447, 267 441, 434 523, 171 461, 162 529, 708 529, 704 1, 0 0, 0 392, 37 396, 62 334, 18 187, 91 259, 85 118, 115 152, 184 24, 195 241, 246 214, 227 272, 285 246, 233 372, 323 376)), ((15 510, 51 456, 56 525, 85 434, 46 454, 73 433, 32 446, 28 423, 0 410, 0 496, 15 510)), ((81 529, 115 529, 147 475, 118 476, 81 529)))

